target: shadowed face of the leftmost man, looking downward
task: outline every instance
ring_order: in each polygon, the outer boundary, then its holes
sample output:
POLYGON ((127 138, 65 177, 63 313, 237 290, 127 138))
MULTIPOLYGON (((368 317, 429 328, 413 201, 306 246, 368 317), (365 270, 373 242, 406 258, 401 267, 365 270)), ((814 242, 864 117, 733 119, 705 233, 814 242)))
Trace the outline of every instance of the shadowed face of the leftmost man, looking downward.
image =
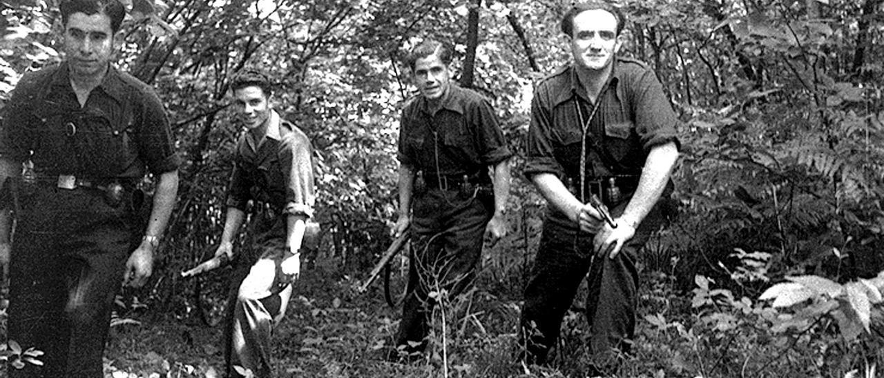
POLYGON ((115 51, 110 17, 73 13, 65 25, 65 52, 74 76, 95 76, 107 69, 115 51))

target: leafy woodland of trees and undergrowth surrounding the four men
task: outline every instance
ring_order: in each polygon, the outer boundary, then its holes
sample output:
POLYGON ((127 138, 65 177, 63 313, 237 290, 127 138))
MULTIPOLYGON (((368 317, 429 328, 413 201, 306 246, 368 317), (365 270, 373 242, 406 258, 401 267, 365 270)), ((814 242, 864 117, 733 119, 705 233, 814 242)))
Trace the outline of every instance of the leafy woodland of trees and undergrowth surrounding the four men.
MULTIPOLYGON (((57 3, 0 0, 0 103, 22 73, 60 59, 57 3)), ((319 170, 322 247, 275 335, 278 374, 582 375, 581 300, 552 366, 514 362, 545 206, 520 157, 511 233, 487 248, 469 299, 440 307, 427 359, 378 359, 400 310, 385 305, 379 283, 355 290, 391 242, 398 114, 415 94, 405 52, 426 36, 455 42, 457 80, 492 99, 521 154, 532 85, 568 62, 558 27, 570 1, 124 3, 118 65, 156 88, 186 163, 155 275, 118 297, 109 376, 220 376, 217 315, 229 270, 179 272, 220 235, 241 132, 229 122, 228 84, 253 65, 277 81, 276 107, 313 140, 319 170)), ((679 211, 644 250, 635 355, 617 376, 875 376, 884 357, 884 2, 619 3, 628 14, 623 51, 667 87, 683 150, 679 211)), ((393 264, 394 287, 404 264, 393 264)), ((39 360, 29 347, 11 342, 0 359, 7 368, 39 360)))

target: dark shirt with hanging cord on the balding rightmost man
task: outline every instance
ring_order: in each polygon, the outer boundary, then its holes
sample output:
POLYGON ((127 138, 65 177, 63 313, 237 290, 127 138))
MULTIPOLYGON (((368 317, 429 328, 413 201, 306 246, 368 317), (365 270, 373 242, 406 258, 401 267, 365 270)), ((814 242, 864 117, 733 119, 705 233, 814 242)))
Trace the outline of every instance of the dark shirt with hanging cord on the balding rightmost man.
MULTIPOLYGON (((639 175, 652 147, 668 142, 678 145, 678 117, 657 76, 644 64, 618 58, 597 101, 598 111, 585 133, 586 178, 639 175)), ((579 178, 583 125, 594 105, 573 65, 537 85, 531 102, 527 177, 552 173, 559 178, 579 178)))

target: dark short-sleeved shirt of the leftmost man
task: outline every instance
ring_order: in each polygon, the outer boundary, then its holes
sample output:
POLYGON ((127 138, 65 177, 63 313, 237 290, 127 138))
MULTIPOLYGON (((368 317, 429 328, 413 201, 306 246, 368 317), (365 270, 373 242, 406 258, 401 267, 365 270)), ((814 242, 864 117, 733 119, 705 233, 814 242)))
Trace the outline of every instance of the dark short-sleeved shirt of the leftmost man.
POLYGON ((66 63, 27 74, 4 112, 0 154, 48 177, 141 178, 180 163, 153 89, 112 66, 83 106, 66 63))

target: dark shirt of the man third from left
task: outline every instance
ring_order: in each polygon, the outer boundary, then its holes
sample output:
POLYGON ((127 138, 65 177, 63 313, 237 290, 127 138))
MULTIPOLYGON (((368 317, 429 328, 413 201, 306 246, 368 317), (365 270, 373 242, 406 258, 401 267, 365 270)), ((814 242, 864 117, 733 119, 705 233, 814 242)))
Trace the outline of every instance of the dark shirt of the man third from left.
POLYGON ((491 104, 470 89, 449 87, 435 113, 423 96, 402 110, 398 157, 416 170, 454 178, 478 175, 490 182, 484 167, 511 155, 491 104))

